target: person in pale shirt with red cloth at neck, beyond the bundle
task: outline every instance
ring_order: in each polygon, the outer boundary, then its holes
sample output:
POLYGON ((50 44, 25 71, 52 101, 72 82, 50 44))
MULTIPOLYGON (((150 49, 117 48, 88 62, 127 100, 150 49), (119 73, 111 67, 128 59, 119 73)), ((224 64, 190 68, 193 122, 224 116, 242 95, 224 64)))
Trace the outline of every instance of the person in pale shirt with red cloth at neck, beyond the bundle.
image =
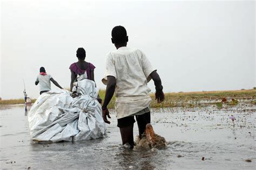
POLYGON ((59 84, 57 83, 57 81, 55 81, 52 76, 50 74, 46 74, 44 67, 40 68, 40 73, 36 78, 36 86, 39 83, 40 85, 40 94, 43 94, 47 91, 51 90, 51 82, 53 82, 53 84, 55 84, 55 86, 57 86, 60 89, 63 89, 61 86, 59 86, 59 84))

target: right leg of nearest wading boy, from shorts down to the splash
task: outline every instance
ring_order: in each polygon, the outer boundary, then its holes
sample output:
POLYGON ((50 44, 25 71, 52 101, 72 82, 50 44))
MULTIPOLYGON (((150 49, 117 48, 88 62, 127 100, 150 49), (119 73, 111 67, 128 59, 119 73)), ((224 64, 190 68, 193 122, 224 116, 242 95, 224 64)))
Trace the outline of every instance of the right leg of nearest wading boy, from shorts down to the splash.
POLYGON ((150 112, 147 112, 143 115, 136 115, 136 120, 139 129, 139 138, 142 139, 142 134, 146 129, 146 124, 150 123, 150 112))

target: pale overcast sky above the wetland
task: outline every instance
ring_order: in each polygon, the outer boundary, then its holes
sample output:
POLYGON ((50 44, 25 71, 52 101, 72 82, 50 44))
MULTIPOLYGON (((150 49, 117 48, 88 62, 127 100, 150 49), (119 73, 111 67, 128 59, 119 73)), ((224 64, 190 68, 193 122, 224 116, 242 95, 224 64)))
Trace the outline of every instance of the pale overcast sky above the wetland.
POLYGON ((104 89, 117 25, 157 69, 165 93, 256 87, 255 1, 1 1, 0 97, 22 98, 24 80, 37 98, 41 66, 68 88, 78 47, 104 89))

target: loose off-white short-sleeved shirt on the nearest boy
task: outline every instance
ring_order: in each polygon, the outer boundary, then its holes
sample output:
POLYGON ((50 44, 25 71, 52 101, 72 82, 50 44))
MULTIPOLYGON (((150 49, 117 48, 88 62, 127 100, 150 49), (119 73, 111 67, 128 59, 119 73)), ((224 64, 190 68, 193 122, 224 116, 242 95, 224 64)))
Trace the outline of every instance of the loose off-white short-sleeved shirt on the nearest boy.
POLYGON ((139 49, 120 47, 107 55, 102 82, 107 83, 107 76, 116 77, 115 109, 118 119, 150 107, 150 88, 147 87, 147 82, 154 70, 156 69, 153 69, 146 55, 139 49))

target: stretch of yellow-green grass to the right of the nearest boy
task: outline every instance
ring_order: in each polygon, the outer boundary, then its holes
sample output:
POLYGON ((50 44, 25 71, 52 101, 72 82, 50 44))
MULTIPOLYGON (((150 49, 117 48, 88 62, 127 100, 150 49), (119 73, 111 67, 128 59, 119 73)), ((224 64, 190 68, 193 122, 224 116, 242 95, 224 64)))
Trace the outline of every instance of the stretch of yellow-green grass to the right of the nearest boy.
POLYGON ((194 107, 215 104, 217 107, 223 107, 223 103, 227 105, 237 105, 238 100, 245 100, 253 103, 256 98, 256 90, 234 90, 234 91, 200 91, 200 92, 179 92, 165 94, 165 101, 157 103, 154 100, 154 94, 151 94, 152 108, 167 107, 194 107), (223 99, 226 102, 223 102, 223 99), (221 103, 221 104, 220 104, 221 103))

